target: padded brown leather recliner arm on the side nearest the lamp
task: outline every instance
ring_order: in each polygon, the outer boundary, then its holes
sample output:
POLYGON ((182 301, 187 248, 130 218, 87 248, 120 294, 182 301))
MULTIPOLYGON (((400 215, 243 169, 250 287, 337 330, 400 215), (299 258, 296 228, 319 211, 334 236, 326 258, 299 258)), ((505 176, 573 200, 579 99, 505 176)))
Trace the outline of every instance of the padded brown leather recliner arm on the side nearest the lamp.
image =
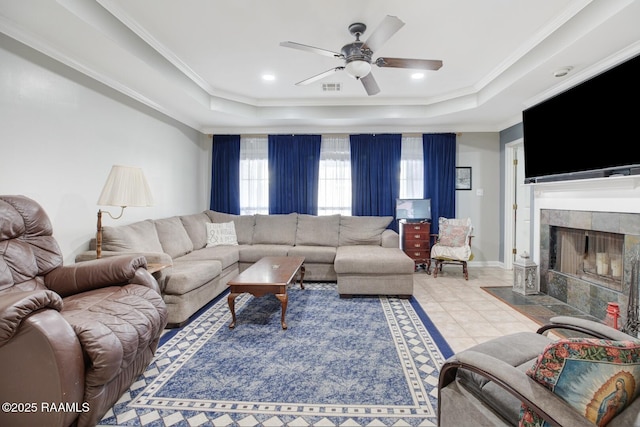
MULTIPOLYGON (((44 283, 64 298, 106 286, 128 284, 137 277, 138 269, 146 267, 147 260, 143 256, 100 258, 58 267, 44 276, 44 283)), ((144 283, 144 279, 142 281, 144 283)))

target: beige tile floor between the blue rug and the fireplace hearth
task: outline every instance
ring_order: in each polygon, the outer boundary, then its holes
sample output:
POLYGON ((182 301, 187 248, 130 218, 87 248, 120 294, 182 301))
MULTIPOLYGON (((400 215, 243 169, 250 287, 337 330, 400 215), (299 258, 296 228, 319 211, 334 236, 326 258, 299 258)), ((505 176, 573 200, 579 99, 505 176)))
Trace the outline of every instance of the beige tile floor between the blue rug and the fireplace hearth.
POLYGON ((470 266, 467 281, 462 267, 451 265, 444 266, 437 278, 423 270, 416 272, 413 296, 458 352, 501 335, 538 329, 539 323, 481 289, 512 285, 512 270, 470 266))

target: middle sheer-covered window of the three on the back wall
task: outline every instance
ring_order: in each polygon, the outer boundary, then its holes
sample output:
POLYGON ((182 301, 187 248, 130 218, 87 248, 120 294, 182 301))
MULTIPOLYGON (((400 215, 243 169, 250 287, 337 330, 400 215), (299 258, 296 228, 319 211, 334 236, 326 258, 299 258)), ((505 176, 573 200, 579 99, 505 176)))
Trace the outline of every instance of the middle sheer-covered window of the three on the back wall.
POLYGON ((318 215, 351 215, 351 151, 347 135, 323 135, 318 215))

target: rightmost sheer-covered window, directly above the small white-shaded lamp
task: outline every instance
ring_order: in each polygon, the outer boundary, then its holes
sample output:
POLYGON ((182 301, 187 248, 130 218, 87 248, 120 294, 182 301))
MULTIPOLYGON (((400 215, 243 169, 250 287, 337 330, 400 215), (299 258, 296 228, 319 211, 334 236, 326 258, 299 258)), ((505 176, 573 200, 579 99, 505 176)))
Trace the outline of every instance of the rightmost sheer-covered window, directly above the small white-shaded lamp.
POLYGON ((402 135, 400 153, 400 198, 424 198, 422 135, 402 135))

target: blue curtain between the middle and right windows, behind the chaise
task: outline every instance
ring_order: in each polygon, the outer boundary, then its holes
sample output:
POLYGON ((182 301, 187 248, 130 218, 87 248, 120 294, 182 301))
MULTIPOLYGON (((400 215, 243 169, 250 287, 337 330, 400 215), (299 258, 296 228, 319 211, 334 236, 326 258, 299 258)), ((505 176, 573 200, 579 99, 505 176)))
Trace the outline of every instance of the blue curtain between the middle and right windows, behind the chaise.
MULTIPOLYGON (((394 216, 402 135, 351 135, 352 214, 394 216)), ((392 228, 397 228, 392 222, 392 228)))

